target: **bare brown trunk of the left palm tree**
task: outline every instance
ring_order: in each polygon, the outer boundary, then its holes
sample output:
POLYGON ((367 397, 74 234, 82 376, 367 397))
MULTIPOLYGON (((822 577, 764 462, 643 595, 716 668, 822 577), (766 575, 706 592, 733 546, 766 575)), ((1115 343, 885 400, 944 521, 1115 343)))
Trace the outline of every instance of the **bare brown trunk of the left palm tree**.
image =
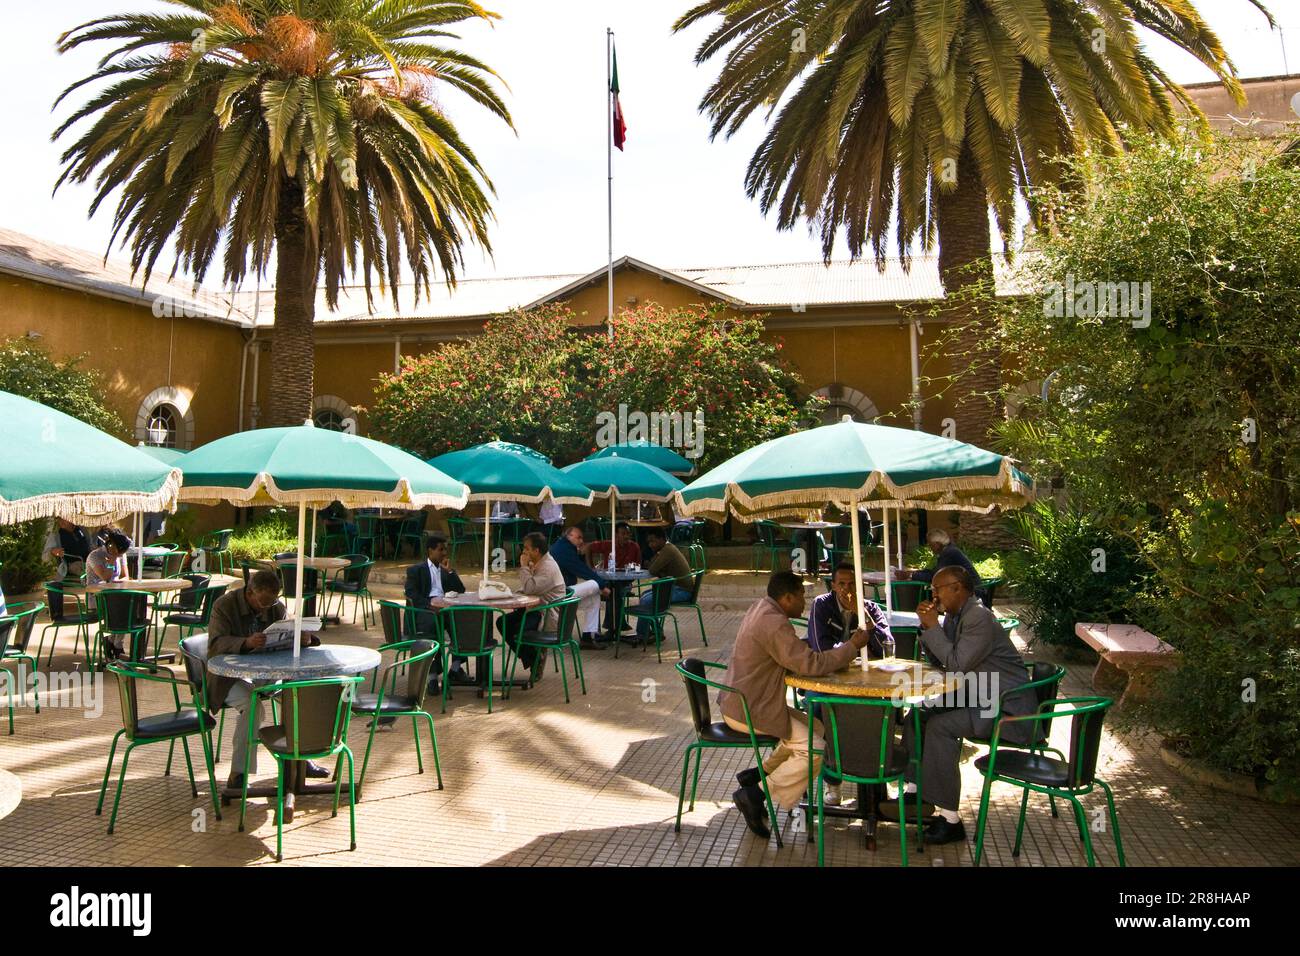
POLYGON ((303 189, 285 177, 276 212, 276 326, 270 337, 268 427, 312 415, 316 377, 316 256, 307 237, 303 189))

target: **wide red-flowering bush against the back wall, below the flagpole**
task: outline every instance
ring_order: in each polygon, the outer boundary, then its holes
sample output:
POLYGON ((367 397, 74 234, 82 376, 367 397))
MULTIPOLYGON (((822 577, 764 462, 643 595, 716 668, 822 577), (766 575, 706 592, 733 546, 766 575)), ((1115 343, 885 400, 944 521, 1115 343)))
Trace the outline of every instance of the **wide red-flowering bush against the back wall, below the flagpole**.
POLYGON ((472 341, 407 358, 381 377, 376 434, 424 458, 500 438, 567 464, 595 450, 599 416, 620 406, 633 427, 634 412, 702 412, 708 468, 816 415, 759 319, 647 304, 615 320, 612 342, 575 320, 562 306, 511 312, 472 341))

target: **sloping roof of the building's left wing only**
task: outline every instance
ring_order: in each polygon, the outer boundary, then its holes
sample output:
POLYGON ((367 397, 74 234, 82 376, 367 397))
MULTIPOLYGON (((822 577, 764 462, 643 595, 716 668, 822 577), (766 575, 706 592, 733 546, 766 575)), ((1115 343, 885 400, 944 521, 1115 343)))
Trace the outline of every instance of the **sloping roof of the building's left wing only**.
POLYGON ((153 310, 155 315, 187 315, 212 321, 247 325, 230 298, 195 290, 187 282, 155 277, 148 287, 131 277, 131 267, 95 252, 38 239, 12 229, 0 229, 0 274, 101 295, 153 310))

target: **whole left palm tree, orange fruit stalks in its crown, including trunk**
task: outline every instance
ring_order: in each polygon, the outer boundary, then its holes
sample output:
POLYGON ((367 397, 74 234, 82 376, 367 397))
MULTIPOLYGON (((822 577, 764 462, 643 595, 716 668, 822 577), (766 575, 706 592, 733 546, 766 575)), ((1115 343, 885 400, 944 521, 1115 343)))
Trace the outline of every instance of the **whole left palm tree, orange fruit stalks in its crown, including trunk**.
MULTIPOLYGON (((147 284, 174 246, 172 276, 263 276, 276 255, 269 424, 311 415, 313 320, 364 276, 373 303, 455 282, 463 247, 490 250, 491 182, 434 99, 458 90, 511 124, 497 74, 448 40, 450 23, 497 20, 451 0, 168 0, 178 12, 108 16, 69 30, 60 52, 117 47, 60 98, 108 81, 55 138, 91 120, 64 152, 58 185, 94 177, 91 215, 120 190, 113 241, 147 284)), ((56 107, 58 105, 56 103, 56 107)))

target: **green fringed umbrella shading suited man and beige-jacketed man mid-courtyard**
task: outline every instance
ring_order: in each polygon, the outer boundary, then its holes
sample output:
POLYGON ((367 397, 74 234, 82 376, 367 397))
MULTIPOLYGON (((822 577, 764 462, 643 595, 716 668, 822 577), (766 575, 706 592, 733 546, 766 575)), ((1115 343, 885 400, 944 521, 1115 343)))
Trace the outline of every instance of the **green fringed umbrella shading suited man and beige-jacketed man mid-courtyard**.
MULTIPOLYGON (((430 458, 429 464, 469 485, 469 501, 484 502, 485 533, 491 535, 491 502, 526 501, 558 505, 590 505, 592 492, 577 479, 554 467, 526 445, 490 441, 460 451, 430 458)), ((488 578, 488 548, 484 546, 484 579, 488 578)))

